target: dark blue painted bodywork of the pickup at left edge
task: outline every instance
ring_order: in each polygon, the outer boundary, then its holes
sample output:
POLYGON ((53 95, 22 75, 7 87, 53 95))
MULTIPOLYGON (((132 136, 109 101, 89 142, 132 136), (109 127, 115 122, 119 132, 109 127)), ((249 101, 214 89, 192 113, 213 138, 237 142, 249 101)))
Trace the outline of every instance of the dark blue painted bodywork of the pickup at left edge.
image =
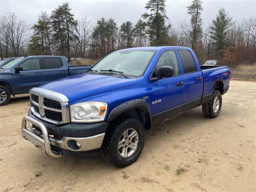
POLYGON ((68 66, 66 57, 64 56, 26 56, 18 59, 20 61, 12 67, 0 69, 0 82, 5 85, 8 84, 11 88, 10 91, 12 94, 28 93, 28 91, 33 87, 38 87, 42 84, 49 83, 60 78, 83 74, 90 68, 90 66, 68 66), (44 58, 47 57, 60 58, 62 61, 62 67, 45 69, 44 58), (39 58, 40 69, 23 70, 19 73, 15 72, 14 68, 16 66, 19 66, 31 58, 39 58))

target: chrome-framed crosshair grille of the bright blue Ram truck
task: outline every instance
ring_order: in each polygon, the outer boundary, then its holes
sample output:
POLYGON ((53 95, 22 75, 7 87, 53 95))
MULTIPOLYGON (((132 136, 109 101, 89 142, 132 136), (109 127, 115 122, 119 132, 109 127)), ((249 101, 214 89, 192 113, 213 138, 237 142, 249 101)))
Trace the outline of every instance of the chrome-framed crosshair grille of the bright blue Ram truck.
POLYGON ((70 122, 67 101, 68 99, 60 93, 42 88, 33 88, 30 90, 32 113, 36 117, 54 124, 70 122))

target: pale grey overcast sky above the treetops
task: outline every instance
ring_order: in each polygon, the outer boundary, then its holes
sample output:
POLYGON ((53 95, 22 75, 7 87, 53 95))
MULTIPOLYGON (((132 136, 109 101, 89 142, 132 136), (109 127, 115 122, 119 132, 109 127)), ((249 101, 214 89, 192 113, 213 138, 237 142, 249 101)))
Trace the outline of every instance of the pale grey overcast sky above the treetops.
MULTIPOLYGON (((92 23, 101 17, 114 18, 120 25, 127 20, 136 23, 145 12, 147 0, 0 0, 0 14, 10 10, 15 12, 18 18, 31 24, 36 21, 41 10, 50 14, 63 2, 69 2, 76 18, 86 16, 92 23)), ((172 24, 177 25, 181 20, 190 20, 186 6, 191 2, 192 0, 166 0, 167 16, 172 24)), ((203 0, 204 28, 216 17, 221 7, 233 16, 233 20, 241 21, 243 18, 256 16, 256 0, 203 0)))

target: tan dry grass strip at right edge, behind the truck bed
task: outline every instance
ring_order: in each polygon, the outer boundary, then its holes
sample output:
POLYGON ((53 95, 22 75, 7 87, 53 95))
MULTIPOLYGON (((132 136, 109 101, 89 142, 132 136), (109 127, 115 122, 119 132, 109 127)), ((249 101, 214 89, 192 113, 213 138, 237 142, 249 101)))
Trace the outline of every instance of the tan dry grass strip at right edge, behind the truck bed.
POLYGON ((256 64, 230 67, 230 71, 232 79, 256 81, 256 64))

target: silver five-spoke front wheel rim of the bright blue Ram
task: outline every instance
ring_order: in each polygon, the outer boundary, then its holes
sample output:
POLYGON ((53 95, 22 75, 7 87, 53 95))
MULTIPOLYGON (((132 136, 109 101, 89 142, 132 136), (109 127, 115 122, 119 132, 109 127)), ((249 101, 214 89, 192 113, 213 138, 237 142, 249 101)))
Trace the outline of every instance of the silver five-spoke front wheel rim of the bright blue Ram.
POLYGON ((123 132, 118 143, 118 152, 121 157, 128 158, 134 154, 138 147, 139 135, 135 129, 127 129, 123 132))

